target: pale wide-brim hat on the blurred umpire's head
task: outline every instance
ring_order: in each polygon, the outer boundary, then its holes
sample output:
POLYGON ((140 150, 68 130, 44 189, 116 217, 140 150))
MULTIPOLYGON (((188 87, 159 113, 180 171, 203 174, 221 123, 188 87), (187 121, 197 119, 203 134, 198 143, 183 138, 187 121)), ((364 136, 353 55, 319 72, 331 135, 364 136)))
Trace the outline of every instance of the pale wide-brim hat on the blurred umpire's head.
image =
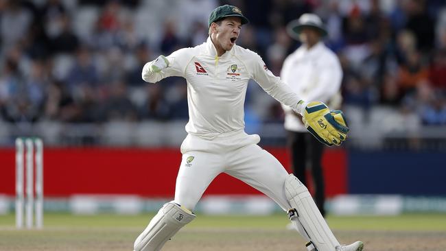
POLYGON ((316 14, 311 13, 305 13, 299 19, 288 23, 287 32, 292 38, 298 39, 304 27, 312 27, 319 31, 320 36, 327 36, 327 29, 325 29, 322 20, 316 14))

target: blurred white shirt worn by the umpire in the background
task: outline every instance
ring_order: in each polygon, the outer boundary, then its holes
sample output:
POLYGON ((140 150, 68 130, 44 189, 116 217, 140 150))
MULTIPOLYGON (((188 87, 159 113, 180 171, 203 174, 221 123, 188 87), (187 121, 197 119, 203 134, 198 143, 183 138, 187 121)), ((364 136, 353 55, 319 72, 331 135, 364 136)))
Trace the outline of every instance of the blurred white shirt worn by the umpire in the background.
MULTIPOLYGON (((281 78, 301 99, 327 104, 340 89, 342 69, 336 54, 319 42, 310 49, 302 45, 287 56, 281 78)), ((285 129, 307 132, 301 119, 289 108, 282 107, 285 110, 285 129)))

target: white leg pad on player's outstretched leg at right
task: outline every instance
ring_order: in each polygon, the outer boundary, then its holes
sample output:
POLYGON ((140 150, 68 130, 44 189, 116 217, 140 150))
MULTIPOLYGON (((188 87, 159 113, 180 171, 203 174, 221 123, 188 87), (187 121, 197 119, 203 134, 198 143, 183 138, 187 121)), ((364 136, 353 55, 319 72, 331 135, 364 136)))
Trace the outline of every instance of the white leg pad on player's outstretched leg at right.
MULTIPOLYGON (((292 174, 285 180, 285 195, 292 207, 291 210, 296 209, 297 213, 296 217, 290 217, 290 219, 292 222, 295 220, 300 222, 301 226, 303 226, 303 231, 307 233, 317 250, 336 250, 339 242, 333 235, 333 232, 331 232, 324 217, 320 214, 312 195, 309 194, 307 187, 292 174)), ((305 235, 303 236, 305 237, 305 235)))

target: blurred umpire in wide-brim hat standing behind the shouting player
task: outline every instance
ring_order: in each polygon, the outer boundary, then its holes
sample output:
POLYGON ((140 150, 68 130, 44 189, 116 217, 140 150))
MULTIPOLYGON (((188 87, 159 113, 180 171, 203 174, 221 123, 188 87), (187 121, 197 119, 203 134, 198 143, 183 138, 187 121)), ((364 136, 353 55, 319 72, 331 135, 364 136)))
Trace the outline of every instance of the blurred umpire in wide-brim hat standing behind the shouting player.
MULTIPOLYGON (((287 25, 287 32, 302 45, 283 62, 283 82, 305 100, 318 100, 332 109, 340 108, 342 69, 336 54, 322 42, 327 29, 320 18, 315 14, 303 14, 287 25)), ((325 184, 321 166, 323 145, 305 129, 301 115, 285 106, 283 110, 294 175, 307 186, 306 168, 311 168, 314 199, 320 213, 325 216, 325 184)))

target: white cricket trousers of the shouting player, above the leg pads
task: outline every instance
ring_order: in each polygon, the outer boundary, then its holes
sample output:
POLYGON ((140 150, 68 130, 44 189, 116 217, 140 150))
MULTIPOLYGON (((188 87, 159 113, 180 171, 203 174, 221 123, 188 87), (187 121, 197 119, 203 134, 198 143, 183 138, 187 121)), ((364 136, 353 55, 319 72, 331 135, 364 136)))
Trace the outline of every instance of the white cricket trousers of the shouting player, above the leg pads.
POLYGON ((226 173, 268 195, 284 211, 291 206, 285 197, 285 168, 257 145, 260 137, 243 130, 221 134, 215 139, 187 135, 181 145, 183 159, 176 178, 177 204, 193 210, 218 174, 226 173))

